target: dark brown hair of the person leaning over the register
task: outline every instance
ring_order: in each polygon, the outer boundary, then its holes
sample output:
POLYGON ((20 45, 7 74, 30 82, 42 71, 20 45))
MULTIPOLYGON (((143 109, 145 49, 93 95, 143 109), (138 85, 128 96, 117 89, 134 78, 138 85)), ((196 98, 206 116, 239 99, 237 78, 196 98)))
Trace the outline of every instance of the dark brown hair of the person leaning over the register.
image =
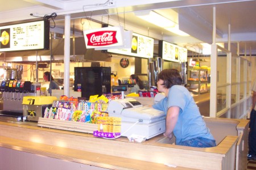
POLYGON ((180 73, 176 69, 165 69, 161 71, 158 75, 159 79, 163 80, 165 88, 171 88, 174 85, 181 85, 182 83, 180 73))

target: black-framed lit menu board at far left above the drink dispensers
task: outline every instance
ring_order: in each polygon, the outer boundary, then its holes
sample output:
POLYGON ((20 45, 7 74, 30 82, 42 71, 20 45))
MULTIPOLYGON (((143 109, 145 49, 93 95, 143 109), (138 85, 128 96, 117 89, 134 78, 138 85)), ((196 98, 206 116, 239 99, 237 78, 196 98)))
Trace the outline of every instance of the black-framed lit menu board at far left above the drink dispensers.
POLYGON ((0 35, 0 52, 49 49, 48 20, 5 25, 0 35))

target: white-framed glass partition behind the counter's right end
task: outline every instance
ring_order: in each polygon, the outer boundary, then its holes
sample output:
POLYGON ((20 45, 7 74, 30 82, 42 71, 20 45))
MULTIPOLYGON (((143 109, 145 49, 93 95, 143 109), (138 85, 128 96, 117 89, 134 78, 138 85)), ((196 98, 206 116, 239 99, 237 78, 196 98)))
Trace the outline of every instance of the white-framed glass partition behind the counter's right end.
POLYGON ((251 63, 212 45, 210 117, 246 118, 251 107, 251 63), (216 76, 216 78, 214 77, 216 76))

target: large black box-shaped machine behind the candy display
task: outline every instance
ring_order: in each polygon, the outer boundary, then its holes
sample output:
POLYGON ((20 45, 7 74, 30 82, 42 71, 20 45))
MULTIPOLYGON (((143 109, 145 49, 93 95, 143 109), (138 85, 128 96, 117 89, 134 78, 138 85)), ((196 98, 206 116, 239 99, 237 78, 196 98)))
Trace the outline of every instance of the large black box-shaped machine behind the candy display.
POLYGON ((74 90, 89 99, 92 95, 110 94, 110 67, 75 67, 74 90))

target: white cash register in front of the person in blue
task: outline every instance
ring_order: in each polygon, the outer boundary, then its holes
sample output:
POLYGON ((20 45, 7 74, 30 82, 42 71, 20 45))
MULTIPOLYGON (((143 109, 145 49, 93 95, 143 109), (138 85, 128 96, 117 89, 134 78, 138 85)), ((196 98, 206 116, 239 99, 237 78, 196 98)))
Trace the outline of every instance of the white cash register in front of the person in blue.
POLYGON ((108 113, 109 116, 122 118, 121 135, 125 137, 137 134, 149 139, 166 131, 165 113, 143 106, 135 99, 110 101, 108 113))

